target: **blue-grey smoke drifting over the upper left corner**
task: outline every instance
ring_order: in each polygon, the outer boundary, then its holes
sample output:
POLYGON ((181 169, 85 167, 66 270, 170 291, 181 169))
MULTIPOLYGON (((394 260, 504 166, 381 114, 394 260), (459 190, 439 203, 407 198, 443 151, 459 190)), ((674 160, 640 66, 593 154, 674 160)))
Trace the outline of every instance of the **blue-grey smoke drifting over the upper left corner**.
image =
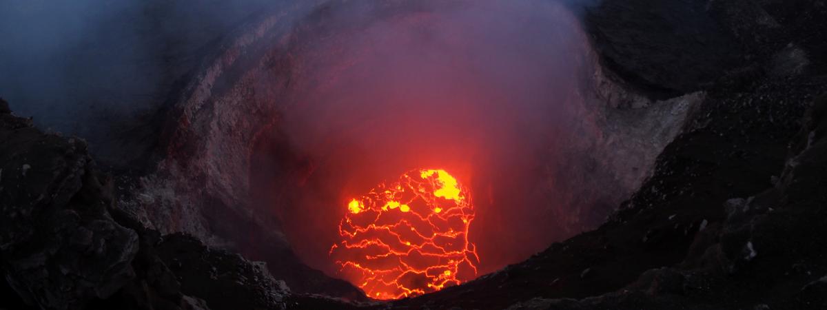
POLYGON ((122 162, 151 148, 158 110, 223 36, 283 3, 3 1, 0 97, 122 162))

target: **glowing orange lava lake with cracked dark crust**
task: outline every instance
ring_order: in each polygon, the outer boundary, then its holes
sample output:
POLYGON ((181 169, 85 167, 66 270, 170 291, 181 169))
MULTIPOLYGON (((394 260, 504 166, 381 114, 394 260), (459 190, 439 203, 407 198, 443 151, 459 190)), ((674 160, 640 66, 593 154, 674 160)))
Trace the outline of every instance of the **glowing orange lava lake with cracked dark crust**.
POLYGON ((476 277, 471 195, 442 169, 412 170, 347 203, 330 255, 370 298, 430 293, 476 277))

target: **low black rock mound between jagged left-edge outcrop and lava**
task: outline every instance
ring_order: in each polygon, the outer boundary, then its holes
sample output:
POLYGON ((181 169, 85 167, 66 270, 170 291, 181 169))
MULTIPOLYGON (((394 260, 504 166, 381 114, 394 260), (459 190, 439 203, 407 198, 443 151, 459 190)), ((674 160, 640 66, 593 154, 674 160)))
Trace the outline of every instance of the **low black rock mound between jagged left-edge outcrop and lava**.
POLYGON ((192 236, 160 236, 126 212, 113 210, 138 231, 141 250, 133 261, 138 276, 95 308, 279 309, 289 289, 272 279, 263 263, 224 250, 210 250, 192 236))

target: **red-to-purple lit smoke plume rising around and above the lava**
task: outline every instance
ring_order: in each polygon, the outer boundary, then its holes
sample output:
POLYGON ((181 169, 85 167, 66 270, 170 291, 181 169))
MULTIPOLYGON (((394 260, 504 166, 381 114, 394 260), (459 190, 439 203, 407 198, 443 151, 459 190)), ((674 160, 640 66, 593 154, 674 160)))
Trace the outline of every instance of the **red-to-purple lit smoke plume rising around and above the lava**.
POLYGON ((555 178, 566 144, 595 135, 583 131, 588 43, 571 9, 377 3, 329 8, 321 38, 296 55, 279 143, 301 167, 274 199, 299 255, 335 274, 327 250, 347 201, 419 168, 472 188, 482 273, 571 236, 556 218, 571 197, 555 178))

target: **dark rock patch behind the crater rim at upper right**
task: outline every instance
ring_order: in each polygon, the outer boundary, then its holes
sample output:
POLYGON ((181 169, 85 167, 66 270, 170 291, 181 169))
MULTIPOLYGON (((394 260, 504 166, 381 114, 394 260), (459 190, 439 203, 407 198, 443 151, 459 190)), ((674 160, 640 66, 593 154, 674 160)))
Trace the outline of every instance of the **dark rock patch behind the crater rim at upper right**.
POLYGON ((702 1, 604 0, 585 21, 605 67, 653 98, 699 90, 744 61, 702 1))

